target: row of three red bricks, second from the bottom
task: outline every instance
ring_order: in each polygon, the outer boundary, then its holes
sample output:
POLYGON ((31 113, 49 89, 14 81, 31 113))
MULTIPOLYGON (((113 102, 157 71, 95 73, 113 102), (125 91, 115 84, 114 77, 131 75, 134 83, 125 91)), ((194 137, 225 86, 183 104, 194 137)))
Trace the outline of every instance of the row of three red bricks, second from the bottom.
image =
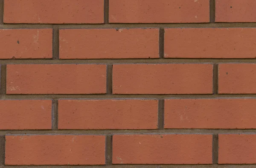
MULTIPOLYGON (((165 99, 165 129, 256 129, 255 98, 165 99)), ((0 130, 47 130, 51 100, 0 100, 0 130)), ((158 129, 158 100, 60 99, 60 130, 158 129)))

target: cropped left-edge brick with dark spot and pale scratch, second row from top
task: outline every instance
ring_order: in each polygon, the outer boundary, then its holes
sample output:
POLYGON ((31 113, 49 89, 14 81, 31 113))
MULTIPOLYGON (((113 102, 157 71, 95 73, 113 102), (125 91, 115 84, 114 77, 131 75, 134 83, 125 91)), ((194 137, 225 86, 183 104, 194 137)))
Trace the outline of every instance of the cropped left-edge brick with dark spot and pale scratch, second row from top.
POLYGON ((0 29, 0 59, 52 58, 52 29, 0 29))

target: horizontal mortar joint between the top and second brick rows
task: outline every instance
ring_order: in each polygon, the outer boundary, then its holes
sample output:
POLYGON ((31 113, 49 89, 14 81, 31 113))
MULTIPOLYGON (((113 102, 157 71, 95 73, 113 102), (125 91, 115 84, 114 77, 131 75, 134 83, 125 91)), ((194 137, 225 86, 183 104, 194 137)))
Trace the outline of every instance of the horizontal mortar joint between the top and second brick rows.
POLYGON ((122 28, 247 28, 256 27, 256 23, 108 23, 108 24, 1 24, 0 29, 122 29, 122 28))

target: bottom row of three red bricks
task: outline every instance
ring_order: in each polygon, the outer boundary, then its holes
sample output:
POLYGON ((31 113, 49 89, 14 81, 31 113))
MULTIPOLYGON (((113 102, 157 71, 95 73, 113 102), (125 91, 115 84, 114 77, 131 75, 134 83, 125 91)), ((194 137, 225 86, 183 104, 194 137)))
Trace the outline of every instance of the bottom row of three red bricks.
MULTIPOLYGON (((6 165, 105 165, 104 135, 8 135, 5 139, 6 165)), ((255 142, 256 134, 219 134, 218 164, 255 164, 255 142)), ((212 164, 212 135, 116 134, 112 163, 212 164)))

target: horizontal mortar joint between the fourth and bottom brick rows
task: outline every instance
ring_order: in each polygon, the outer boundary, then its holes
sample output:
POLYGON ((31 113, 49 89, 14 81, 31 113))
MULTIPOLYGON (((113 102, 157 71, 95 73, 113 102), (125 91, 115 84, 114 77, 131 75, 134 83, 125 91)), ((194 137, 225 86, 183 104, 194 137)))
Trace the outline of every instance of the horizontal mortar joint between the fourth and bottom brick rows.
POLYGON ((112 135, 112 134, 218 134, 218 133, 248 133, 256 134, 256 129, 160 129, 160 130, 0 130, 0 135, 112 135))

